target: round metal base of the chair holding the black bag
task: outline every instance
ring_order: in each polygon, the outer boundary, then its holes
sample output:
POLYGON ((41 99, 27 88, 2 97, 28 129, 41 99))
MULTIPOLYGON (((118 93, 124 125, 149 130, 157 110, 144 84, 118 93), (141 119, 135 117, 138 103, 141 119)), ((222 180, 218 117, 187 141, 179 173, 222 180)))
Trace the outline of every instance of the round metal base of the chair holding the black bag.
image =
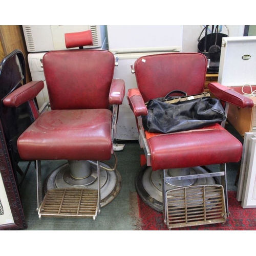
MULTIPOLYGON (((189 168, 190 174, 205 174, 210 170, 200 166, 189 168)), ((215 185, 216 180, 213 177, 196 179, 191 185, 215 185)), ((166 189, 174 189, 177 187, 187 186, 180 184, 166 184, 166 189)), ((155 170, 153 172, 150 166, 143 166, 139 171, 136 180, 135 188, 141 200, 151 208, 162 212, 162 172, 155 170)))

